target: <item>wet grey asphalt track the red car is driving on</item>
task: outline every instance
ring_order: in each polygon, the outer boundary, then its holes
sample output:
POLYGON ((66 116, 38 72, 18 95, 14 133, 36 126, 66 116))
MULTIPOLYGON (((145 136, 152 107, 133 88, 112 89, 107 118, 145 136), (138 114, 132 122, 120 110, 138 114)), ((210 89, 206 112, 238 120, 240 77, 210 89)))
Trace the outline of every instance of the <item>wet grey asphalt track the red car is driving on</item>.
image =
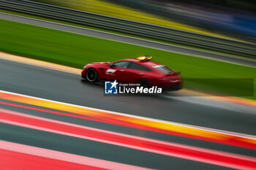
MULTIPOLYGON (((82 80, 78 74, 0 60, 1 90, 63 101, 114 112, 169 120, 207 128, 256 135, 255 108, 241 111, 194 104, 162 96, 104 96, 104 87, 82 80), (248 111, 248 113, 246 113, 248 111)), ((195 98, 192 98, 195 101, 195 98)), ((211 101, 214 102, 214 101, 211 101)))

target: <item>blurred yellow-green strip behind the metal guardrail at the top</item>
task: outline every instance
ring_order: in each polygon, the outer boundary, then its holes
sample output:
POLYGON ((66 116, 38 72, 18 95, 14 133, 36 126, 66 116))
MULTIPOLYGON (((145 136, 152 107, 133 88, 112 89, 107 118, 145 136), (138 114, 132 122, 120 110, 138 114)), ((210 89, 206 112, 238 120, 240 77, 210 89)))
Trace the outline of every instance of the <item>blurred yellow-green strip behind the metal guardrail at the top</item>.
POLYGON ((206 34, 217 37, 225 37, 220 34, 214 34, 206 30, 189 26, 182 23, 166 20, 166 18, 160 18, 157 15, 148 14, 146 12, 140 12, 136 9, 124 7, 118 4, 113 4, 108 1, 102 0, 34 0, 41 1, 48 4, 55 4, 62 7, 69 7, 73 9, 79 9, 87 12, 94 12, 102 15, 109 15, 116 18, 124 18, 127 20, 136 20, 143 23, 151 23, 159 26, 166 26, 170 28, 176 28, 184 31, 192 31, 199 34, 206 34))

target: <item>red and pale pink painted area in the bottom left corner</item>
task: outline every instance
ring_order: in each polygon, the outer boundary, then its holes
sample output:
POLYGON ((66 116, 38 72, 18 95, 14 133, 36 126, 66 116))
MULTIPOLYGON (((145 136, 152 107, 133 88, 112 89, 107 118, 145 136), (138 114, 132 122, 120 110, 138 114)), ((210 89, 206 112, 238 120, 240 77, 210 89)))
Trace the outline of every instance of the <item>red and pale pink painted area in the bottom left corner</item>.
POLYGON ((0 140, 1 169, 135 169, 139 166, 104 161, 0 140), (15 163, 14 163, 15 162, 15 163))

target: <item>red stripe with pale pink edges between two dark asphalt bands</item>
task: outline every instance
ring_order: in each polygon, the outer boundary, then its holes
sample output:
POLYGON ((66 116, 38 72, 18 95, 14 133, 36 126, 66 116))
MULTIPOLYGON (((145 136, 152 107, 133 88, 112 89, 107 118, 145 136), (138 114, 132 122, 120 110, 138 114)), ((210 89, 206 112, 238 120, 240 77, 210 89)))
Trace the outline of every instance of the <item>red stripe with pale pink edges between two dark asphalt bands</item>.
POLYGON ((155 152, 157 154, 184 158, 192 161, 211 163, 230 168, 252 169, 256 167, 255 158, 249 156, 219 152, 215 150, 191 147, 184 144, 162 142, 154 139, 104 131, 97 128, 89 128, 72 123, 64 123, 58 120, 26 115, 7 109, 0 109, 1 123, 19 125, 26 128, 34 128, 56 134, 74 136, 97 142, 115 144, 121 147, 129 147, 135 150, 155 152))

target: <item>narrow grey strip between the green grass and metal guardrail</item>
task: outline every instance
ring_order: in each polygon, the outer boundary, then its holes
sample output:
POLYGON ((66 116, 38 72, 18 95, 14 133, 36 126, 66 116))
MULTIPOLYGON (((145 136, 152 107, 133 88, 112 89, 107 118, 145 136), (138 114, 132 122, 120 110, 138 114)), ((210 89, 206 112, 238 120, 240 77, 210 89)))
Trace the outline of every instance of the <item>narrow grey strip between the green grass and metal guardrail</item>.
POLYGON ((175 53, 183 53, 187 55, 193 55, 200 58, 209 58, 217 61, 225 61, 229 63, 237 63, 244 66, 256 66, 256 61, 247 59, 247 58, 239 58, 232 55, 224 55, 220 53, 207 52, 203 50, 195 50, 188 47, 180 47, 176 45, 164 44, 159 42, 152 42, 145 39, 137 39, 130 36, 122 36, 118 34, 111 34, 103 31, 96 31, 88 28, 80 28, 75 26, 69 26, 61 23, 53 23, 45 20, 38 20, 34 18, 26 18, 19 15, 11 15, 4 12, 0 12, 0 18, 4 20, 12 20, 20 23, 27 23, 34 26, 42 26, 45 28, 53 28, 61 31, 68 31, 76 34, 83 34, 87 36, 94 36, 102 39, 111 39, 118 42, 125 42, 132 45, 140 45, 144 47, 151 47, 159 50, 166 50, 175 53))

